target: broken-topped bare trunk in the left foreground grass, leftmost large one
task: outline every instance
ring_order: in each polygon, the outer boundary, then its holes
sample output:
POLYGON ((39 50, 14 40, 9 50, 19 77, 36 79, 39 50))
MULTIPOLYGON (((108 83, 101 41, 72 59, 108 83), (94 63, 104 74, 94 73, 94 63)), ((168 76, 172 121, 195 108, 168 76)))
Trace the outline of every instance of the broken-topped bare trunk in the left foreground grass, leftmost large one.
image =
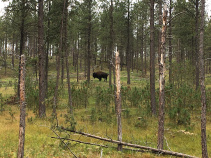
POLYGON ((20 65, 20 124, 19 124, 19 145, 18 158, 24 157, 25 143, 25 115, 26 115, 26 96, 25 96, 25 56, 21 55, 20 65))

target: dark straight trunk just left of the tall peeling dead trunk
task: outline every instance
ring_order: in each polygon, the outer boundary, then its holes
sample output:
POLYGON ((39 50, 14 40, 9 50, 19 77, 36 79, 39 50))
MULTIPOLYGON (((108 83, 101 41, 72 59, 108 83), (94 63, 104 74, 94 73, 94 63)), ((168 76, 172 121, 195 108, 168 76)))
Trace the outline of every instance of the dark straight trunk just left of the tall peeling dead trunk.
POLYGON ((154 47, 154 0, 150 0, 150 98, 152 114, 156 115, 154 47))

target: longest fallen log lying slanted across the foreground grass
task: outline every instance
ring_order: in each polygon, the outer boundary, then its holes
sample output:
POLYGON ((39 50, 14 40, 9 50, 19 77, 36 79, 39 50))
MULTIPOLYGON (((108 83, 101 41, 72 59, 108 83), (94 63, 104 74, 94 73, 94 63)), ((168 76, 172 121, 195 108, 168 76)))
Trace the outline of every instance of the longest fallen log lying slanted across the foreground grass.
POLYGON ((87 137, 90 137, 90 138, 99 139, 99 140, 102 140, 102 141, 107 141, 107 142, 111 142, 111 143, 115 143, 115 144, 122 144, 122 145, 133 147, 133 148, 140 148, 140 149, 144 149, 144 150, 149 150, 149 151, 151 151, 153 153, 157 153, 157 154, 172 155, 172 156, 186 157, 186 158, 196 158, 194 156, 186 155, 186 154, 183 154, 183 153, 178 153, 178 152, 173 152, 173 151, 168 151, 168 150, 160 150, 160 149, 156 149, 156 148, 151 148, 151 147, 141 146, 141 145, 137 145, 137 144, 126 143, 126 142, 120 142, 120 141, 117 141, 117 140, 112 140, 112 139, 107 139, 107 138, 91 135, 89 133, 84 133, 84 132, 73 131, 73 130, 70 130, 70 129, 65 129, 64 127, 61 127, 61 129, 65 130, 65 131, 72 132, 72 133, 81 134, 81 135, 84 135, 84 136, 87 136, 87 137))

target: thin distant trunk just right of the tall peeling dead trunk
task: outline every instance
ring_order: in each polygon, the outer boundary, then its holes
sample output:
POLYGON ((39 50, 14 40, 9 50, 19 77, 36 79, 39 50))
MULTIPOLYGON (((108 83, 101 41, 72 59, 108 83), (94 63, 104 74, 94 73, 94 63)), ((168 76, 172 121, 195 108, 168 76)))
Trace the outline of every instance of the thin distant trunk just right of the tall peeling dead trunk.
POLYGON ((172 28, 171 28, 171 10, 172 10, 172 0, 170 0, 170 8, 169 8, 169 83, 172 84, 172 28))

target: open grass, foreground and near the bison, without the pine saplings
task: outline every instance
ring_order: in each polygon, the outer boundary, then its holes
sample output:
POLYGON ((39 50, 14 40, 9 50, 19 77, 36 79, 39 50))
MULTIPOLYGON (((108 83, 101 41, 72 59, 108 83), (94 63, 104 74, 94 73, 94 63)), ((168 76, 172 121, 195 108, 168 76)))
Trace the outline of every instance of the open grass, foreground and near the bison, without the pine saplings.
MULTIPOLYGON (((55 72, 50 72, 55 73, 55 72)), ((3 72, 0 73, 1 75, 3 72)), ((0 80, 0 94, 2 94, 2 105, 4 110, 0 112, 0 157, 12 158, 17 156, 18 149, 18 132, 19 132, 19 105, 12 101, 15 95, 14 78, 8 72, 8 75, 2 77, 0 80), (4 105, 3 105, 4 104, 4 105)), ((71 83, 75 84, 75 73, 71 74, 71 83)), ((148 77, 140 78, 138 73, 131 74, 131 87, 132 86, 145 86, 148 82, 148 77)), ((126 85, 126 72, 122 72, 122 84, 126 85)), ((81 81, 82 82, 82 81, 81 81)), ((208 81, 208 86, 211 82, 208 81)), ((75 84, 79 86, 80 84, 75 84)), ((92 79, 91 88, 97 86, 108 87, 108 82, 99 82, 97 79, 92 79)), ((158 86, 158 85, 157 85, 158 86)), ((98 109, 93 98, 89 99, 89 104, 85 108, 84 105, 79 105, 74 109, 74 120, 72 122, 65 121, 65 114, 67 114, 67 91, 61 92, 59 99, 59 107, 57 109, 58 124, 60 126, 68 126, 76 122, 75 128, 77 131, 83 131, 93 135, 117 139, 117 124, 116 115, 111 110, 110 114, 103 111, 102 120, 93 119, 96 109, 98 109)), ((91 94, 92 95, 92 94, 91 94)), ((29 103, 27 103, 27 106, 29 103)), ((31 103, 30 103, 31 104, 31 103)), ((210 105, 208 105, 210 106, 210 105)), ((136 152, 132 150, 123 150, 123 152, 116 151, 116 144, 94 140, 85 136, 74 133, 61 132, 56 129, 51 129, 51 109, 52 105, 47 105, 47 116, 45 119, 39 119, 33 108, 27 108, 26 113, 26 136, 25 136, 25 157, 28 158, 65 158, 73 157, 70 150, 80 158, 159 158, 159 157, 172 157, 153 154, 150 152, 136 152), (109 148, 102 148, 99 146, 91 146, 80 144, 71 141, 65 141, 68 147, 56 137, 56 132, 60 137, 66 137, 83 142, 96 143, 107 145, 109 148)), ((112 107, 114 109, 114 106, 112 107)), ((123 107, 124 108, 124 107, 123 107)), ((99 109, 98 109, 99 110, 99 109)), ((124 109, 125 110, 125 109, 124 109)), ((144 115, 138 117, 137 109, 130 107, 129 114, 123 113, 122 115, 122 128, 123 128, 123 141, 148 146, 152 148, 157 147, 157 127, 158 119, 156 117, 144 115)), ((200 109, 191 113, 191 124, 188 126, 176 125, 172 122, 168 115, 165 118, 165 140, 164 149, 174 152, 180 152, 196 157, 201 157, 201 131, 200 131, 200 109)), ((208 152, 211 151, 211 111, 207 113, 207 147, 208 152)), ((211 153, 209 153, 210 155, 211 153)), ((210 155, 211 156, 211 155, 210 155)))

